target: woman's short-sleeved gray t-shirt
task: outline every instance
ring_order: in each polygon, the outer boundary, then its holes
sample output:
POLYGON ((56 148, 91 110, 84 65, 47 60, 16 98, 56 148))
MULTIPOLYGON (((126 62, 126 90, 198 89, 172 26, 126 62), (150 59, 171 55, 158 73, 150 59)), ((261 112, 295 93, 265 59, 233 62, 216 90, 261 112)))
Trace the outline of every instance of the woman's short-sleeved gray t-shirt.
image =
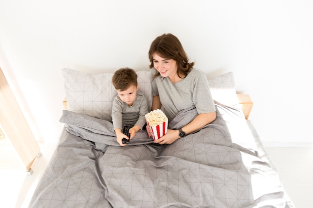
MULTIPOLYGON (((153 68, 154 69, 154 68, 153 68)), ((155 69, 152 70, 152 77, 155 69)), ((162 110, 171 121, 180 111, 195 106, 198 114, 215 111, 204 72, 191 69, 185 78, 173 83, 160 75, 152 79, 153 96, 159 95, 162 110)))

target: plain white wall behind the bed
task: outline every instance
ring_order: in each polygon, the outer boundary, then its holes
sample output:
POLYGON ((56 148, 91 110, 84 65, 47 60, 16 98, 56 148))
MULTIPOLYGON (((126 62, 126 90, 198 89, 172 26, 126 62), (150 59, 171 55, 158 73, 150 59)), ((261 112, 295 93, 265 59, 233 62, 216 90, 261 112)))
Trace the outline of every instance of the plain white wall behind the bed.
POLYGON ((60 69, 148 70, 151 41, 175 34, 208 75, 233 71, 264 143, 313 142, 313 1, 0 0, 0 67, 39 142, 56 141, 60 69))

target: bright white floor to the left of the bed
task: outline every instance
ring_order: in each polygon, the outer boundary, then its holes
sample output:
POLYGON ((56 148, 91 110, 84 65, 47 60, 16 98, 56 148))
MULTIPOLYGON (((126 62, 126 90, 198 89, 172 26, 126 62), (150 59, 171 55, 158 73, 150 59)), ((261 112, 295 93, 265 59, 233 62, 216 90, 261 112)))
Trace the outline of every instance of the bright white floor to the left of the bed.
POLYGON ((36 185, 46 168, 56 144, 39 144, 41 156, 26 172, 11 143, 0 140, 0 208, 27 208, 36 185))

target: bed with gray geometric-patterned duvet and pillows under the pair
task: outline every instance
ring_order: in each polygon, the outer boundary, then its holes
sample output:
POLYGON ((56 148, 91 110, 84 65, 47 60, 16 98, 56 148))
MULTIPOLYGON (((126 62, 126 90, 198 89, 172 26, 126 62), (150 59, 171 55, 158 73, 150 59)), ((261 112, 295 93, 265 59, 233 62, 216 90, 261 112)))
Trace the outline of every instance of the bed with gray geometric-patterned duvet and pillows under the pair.
MULTIPOLYGON (((233 72, 208 77, 216 119, 171 145, 145 130, 120 147, 110 123, 112 73, 61 70, 59 144, 28 208, 294 208, 239 105, 233 72)), ((151 106, 151 73, 138 71, 151 106)), ((180 112, 178 129, 196 116, 180 112)))

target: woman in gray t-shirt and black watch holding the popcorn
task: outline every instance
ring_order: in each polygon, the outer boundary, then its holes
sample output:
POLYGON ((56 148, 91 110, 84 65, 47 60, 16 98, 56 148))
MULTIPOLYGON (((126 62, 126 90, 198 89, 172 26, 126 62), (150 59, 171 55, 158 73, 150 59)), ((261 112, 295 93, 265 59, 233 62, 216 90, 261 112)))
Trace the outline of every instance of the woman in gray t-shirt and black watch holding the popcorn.
MULTIPOLYGON (((215 106, 209 91, 207 78, 202 71, 193 68, 176 36, 167 33, 156 37, 151 43, 148 56, 152 78, 152 110, 160 109, 172 120, 177 113, 195 106, 198 115, 178 130, 168 129, 167 133, 154 143, 171 144, 216 118, 215 106)), ((147 130, 150 136, 149 131, 147 130)))

